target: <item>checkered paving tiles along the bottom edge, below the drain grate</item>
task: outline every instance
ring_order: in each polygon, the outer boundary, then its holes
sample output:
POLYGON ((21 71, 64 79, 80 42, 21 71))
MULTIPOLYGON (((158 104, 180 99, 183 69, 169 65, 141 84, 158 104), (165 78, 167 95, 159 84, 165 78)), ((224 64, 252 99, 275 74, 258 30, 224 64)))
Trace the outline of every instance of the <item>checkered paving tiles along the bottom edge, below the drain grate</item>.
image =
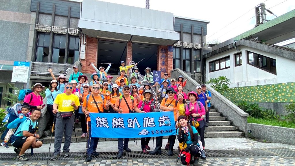
MULTIPOLYGON (((177 165, 182 165, 178 161, 177 165)), ((34 162, 17 162, 17 161, 0 161, 1 166, 45 166, 46 161, 34 162)), ((91 162, 85 162, 81 160, 68 160, 68 161, 49 161, 50 166, 174 166, 176 165, 176 159, 123 159, 123 160, 92 160, 91 162)), ((207 160, 200 160, 199 165, 203 166, 214 166, 214 165, 295 165, 295 159, 284 159, 278 156, 269 157, 235 157, 235 158, 207 158, 207 160)))

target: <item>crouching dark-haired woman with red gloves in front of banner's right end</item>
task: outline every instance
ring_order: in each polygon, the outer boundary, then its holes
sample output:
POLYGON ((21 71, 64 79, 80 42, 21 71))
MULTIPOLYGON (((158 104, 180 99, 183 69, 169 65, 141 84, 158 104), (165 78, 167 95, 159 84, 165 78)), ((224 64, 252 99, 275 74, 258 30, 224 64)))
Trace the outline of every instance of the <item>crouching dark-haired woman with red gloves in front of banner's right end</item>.
POLYGON ((198 139, 198 131, 191 127, 186 117, 181 115, 177 118, 180 128, 177 129, 177 139, 181 147, 181 163, 189 164, 191 157, 194 156, 194 165, 198 165, 198 157, 200 156, 200 145, 198 139))

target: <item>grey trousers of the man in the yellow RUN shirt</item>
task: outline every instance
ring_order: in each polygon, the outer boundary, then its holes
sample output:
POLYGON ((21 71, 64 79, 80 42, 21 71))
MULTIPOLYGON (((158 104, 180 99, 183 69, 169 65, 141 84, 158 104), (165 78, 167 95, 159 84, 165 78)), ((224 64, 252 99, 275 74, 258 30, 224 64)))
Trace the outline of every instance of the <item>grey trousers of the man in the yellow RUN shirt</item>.
POLYGON ((63 119, 60 117, 60 113, 57 113, 56 115, 56 121, 55 121, 55 134, 54 134, 54 152, 53 154, 59 154, 60 153, 60 147, 61 143, 63 141, 63 133, 65 133, 65 144, 63 145, 63 152, 69 152, 71 139, 72 139, 72 133, 73 133, 73 127, 74 127, 74 119, 75 114, 71 116, 69 119, 63 119))

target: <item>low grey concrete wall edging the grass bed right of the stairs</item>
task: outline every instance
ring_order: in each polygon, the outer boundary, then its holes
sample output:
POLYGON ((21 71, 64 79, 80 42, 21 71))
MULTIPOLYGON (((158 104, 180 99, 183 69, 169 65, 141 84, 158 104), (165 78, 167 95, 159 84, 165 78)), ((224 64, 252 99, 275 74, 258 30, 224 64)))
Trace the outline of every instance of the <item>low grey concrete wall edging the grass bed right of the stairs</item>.
POLYGON ((295 145, 295 128, 248 123, 248 130, 251 130, 251 136, 257 139, 265 139, 273 143, 295 145))

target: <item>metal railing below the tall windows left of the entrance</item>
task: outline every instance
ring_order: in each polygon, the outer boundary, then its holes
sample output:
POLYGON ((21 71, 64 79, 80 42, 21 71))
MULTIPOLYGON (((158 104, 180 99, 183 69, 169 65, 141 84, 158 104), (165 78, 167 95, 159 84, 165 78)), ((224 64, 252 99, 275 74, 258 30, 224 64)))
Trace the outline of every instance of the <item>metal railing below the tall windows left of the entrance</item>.
MULTIPOLYGON (((31 74, 50 74, 48 69, 52 69, 53 74, 60 75, 60 71, 71 69, 73 64, 61 64, 53 62, 32 61, 31 74)), ((65 74, 64 74, 65 75, 65 74)))

